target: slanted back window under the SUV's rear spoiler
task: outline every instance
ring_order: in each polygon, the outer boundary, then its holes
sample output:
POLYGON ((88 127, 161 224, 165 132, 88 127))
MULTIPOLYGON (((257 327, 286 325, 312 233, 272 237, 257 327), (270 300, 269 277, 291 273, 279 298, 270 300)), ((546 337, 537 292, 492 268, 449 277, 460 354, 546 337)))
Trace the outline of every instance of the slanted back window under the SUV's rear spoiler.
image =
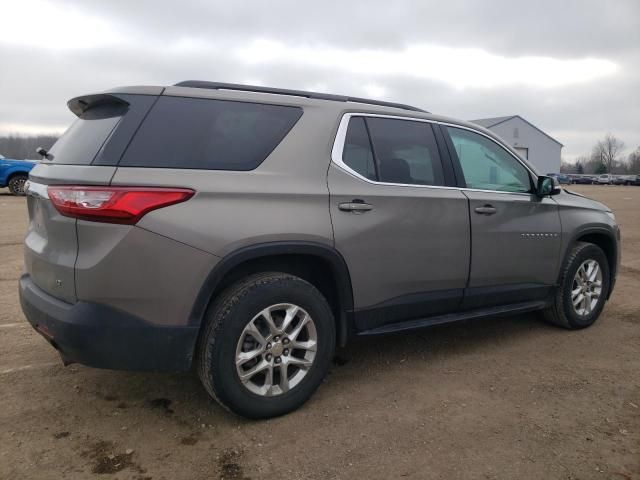
POLYGON ((90 108, 51 147, 51 161, 90 165, 126 111, 126 106, 116 104, 90 108))

